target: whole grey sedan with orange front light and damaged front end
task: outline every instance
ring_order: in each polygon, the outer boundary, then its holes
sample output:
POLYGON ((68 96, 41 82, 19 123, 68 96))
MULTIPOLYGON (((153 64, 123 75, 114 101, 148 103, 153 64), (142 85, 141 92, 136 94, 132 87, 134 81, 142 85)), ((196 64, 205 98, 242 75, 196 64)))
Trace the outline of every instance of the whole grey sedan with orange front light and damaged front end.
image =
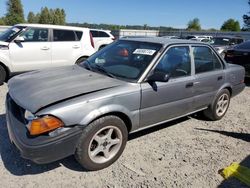
POLYGON ((9 80, 9 137, 36 163, 75 155, 99 170, 119 158, 129 133, 198 111, 221 119, 244 74, 205 43, 120 39, 80 65, 9 80))

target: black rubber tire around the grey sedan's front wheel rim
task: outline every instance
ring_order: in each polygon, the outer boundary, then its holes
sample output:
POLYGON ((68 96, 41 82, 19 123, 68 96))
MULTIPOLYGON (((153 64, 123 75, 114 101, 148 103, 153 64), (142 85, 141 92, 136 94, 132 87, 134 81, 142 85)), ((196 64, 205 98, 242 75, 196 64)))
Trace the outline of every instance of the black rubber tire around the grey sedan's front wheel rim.
POLYGON ((76 157, 77 161, 86 170, 101 170, 105 167, 108 167, 112 163, 114 163, 120 157, 120 155, 122 154, 122 152, 126 146, 127 139, 128 139, 128 131, 127 131, 126 125, 119 117, 116 117, 116 116, 102 117, 102 118, 92 122, 91 124, 89 124, 83 130, 83 133, 79 139, 79 143, 77 144, 77 147, 76 147, 75 157, 76 157), (89 155, 88 155, 89 144, 90 144, 93 136, 100 129, 102 129, 106 126, 115 126, 115 127, 119 128, 119 130, 122 133, 122 145, 121 145, 118 153, 112 159, 107 161, 106 163, 102 163, 102 164, 94 163, 89 158, 89 155))

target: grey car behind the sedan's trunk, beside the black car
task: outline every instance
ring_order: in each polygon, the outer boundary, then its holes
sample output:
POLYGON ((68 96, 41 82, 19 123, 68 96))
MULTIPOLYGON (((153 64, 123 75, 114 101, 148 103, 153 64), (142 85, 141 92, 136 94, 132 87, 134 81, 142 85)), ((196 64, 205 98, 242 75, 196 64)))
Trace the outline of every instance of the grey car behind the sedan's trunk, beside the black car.
POLYGON ((219 36, 213 38, 212 45, 217 50, 217 52, 224 58, 225 52, 228 48, 231 48, 242 42, 244 42, 244 39, 241 37, 219 36))

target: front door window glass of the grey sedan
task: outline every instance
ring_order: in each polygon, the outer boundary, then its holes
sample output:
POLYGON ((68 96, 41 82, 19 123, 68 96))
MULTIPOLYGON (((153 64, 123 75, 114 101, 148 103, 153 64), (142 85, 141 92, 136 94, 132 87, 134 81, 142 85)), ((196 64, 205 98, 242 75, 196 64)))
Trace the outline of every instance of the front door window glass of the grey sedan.
POLYGON ((189 76, 191 74, 191 58, 188 46, 170 48, 155 68, 155 71, 164 72, 171 78, 189 76))

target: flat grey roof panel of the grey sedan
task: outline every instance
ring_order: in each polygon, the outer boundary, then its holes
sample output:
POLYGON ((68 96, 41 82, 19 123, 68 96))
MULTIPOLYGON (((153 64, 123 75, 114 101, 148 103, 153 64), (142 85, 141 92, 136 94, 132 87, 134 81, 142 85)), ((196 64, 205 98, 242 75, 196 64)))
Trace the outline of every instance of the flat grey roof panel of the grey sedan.
POLYGON ((202 44, 202 45, 207 45, 207 44, 199 42, 199 41, 185 40, 185 39, 168 39, 168 38, 164 38, 164 37, 133 37, 133 38, 121 38, 120 40, 159 43, 159 44, 162 44, 164 46, 170 45, 170 44, 202 44))

